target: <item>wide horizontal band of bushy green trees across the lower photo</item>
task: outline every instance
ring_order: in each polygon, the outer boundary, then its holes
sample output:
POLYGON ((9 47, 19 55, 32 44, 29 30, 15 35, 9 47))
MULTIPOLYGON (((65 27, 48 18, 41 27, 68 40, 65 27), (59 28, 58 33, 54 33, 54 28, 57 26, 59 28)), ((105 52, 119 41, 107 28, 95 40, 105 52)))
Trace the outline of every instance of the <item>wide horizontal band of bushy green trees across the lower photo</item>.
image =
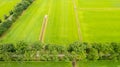
POLYGON ((0 61, 120 60, 120 43, 80 43, 69 46, 40 42, 0 45, 0 61))

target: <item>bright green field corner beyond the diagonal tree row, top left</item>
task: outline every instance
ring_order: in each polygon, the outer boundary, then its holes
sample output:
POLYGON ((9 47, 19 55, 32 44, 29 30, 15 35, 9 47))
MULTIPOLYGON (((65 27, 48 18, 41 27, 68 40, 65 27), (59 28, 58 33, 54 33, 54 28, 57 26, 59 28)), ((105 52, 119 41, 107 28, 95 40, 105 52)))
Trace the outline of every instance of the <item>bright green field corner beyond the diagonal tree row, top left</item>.
POLYGON ((21 0, 0 0, 0 19, 4 19, 4 15, 9 15, 15 5, 21 0))

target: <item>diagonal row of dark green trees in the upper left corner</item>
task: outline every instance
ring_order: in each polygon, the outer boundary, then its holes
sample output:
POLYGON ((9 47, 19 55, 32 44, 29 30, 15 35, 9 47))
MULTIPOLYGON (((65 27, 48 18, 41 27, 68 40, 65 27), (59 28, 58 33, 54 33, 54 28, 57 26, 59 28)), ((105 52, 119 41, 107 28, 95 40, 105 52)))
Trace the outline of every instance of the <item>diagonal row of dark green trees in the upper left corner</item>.
POLYGON ((33 1, 34 0, 22 0, 15 6, 14 10, 9 12, 9 16, 4 15, 4 21, 0 19, 0 36, 2 36, 3 33, 11 27, 16 19, 28 8, 30 4, 32 4, 33 1))

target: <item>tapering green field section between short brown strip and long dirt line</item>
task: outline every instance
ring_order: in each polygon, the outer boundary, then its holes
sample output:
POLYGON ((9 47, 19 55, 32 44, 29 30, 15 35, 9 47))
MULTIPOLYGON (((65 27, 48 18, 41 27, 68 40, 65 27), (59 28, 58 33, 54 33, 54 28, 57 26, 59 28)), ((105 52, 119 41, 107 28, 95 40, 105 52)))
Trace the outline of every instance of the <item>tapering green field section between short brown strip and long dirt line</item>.
POLYGON ((72 0, 52 0, 45 43, 68 44, 78 41, 77 29, 72 0))

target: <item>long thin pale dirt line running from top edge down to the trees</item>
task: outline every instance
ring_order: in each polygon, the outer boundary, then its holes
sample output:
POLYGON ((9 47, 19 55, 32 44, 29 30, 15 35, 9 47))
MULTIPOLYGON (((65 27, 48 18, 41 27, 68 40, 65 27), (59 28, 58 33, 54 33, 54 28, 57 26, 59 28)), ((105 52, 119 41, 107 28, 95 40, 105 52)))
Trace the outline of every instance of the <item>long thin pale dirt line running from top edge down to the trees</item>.
POLYGON ((74 5, 76 23, 77 23, 77 26, 78 26, 78 36, 79 36, 79 40, 82 42, 82 33, 81 33, 81 30, 80 30, 81 27, 80 27, 80 21, 79 21, 79 17, 78 17, 78 11, 77 11, 75 0, 72 0, 72 2, 73 2, 73 5, 74 5))

